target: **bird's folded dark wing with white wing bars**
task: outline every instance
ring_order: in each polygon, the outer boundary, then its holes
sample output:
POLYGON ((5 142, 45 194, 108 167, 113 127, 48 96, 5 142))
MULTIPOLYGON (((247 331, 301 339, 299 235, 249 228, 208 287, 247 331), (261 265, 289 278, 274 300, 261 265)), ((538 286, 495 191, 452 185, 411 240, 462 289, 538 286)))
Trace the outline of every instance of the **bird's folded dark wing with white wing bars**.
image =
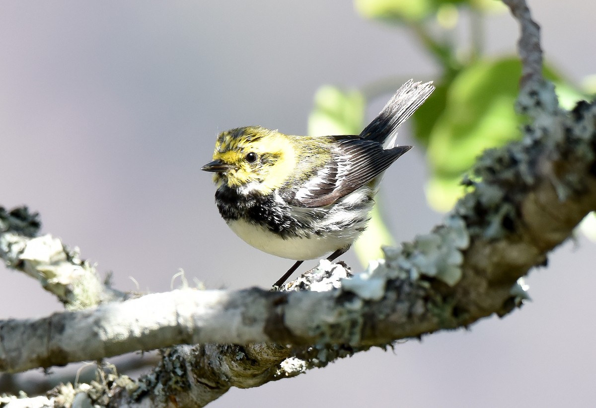
POLYGON ((411 146, 383 149, 383 145, 358 136, 336 136, 331 160, 311 178, 294 187, 284 199, 299 207, 322 207, 352 193, 386 170, 411 146))

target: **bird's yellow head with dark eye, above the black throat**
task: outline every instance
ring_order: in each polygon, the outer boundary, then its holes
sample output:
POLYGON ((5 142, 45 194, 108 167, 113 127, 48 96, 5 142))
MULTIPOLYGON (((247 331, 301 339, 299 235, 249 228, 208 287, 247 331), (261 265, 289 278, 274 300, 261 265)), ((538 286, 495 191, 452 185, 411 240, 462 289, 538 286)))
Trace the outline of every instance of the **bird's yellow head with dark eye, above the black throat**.
POLYGON ((224 169, 215 173, 219 187, 251 185, 268 194, 283 186, 294 171, 294 149, 289 138, 278 131, 250 126, 222 132, 215 144, 213 160, 224 169))

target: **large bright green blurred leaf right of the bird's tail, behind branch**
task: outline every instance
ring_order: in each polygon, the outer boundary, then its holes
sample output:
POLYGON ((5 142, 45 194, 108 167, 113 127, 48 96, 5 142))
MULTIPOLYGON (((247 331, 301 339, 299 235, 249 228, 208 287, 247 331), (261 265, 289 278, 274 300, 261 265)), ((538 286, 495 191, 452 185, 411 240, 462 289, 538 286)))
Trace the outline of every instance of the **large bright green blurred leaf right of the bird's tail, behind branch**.
MULTIPOLYGON (((433 101, 436 106, 426 106, 433 95, 417 112, 420 115, 416 118, 417 137, 424 141, 424 132, 429 132, 427 160, 431 176, 426 193, 432 208, 437 211, 452 208, 464 192, 459 186, 462 175, 483 150, 520 137, 523 118, 514 112, 514 103, 521 73, 521 63, 514 57, 477 61, 462 69, 445 89, 437 89, 439 100, 433 101), (432 115, 436 115, 435 109, 442 104, 444 110, 433 122, 432 115), (423 110, 425 106, 427 112, 423 110), (424 123, 427 113, 431 117, 430 130, 424 123)), ((557 93, 565 102, 563 106, 572 106, 582 98, 554 69, 547 67, 545 77, 557 86, 557 93)))

